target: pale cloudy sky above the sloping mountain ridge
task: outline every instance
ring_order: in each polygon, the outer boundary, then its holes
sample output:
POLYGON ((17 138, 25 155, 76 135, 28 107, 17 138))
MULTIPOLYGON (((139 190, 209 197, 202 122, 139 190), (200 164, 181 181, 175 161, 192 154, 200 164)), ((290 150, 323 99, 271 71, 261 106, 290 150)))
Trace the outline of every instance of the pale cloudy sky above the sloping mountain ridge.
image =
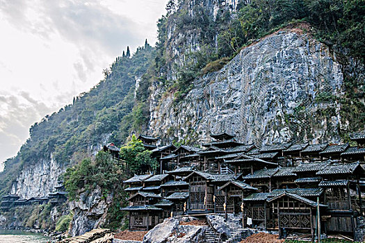
POLYGON ((29 128, 103 78, 122 51, 156 42, 168 0, 0 0, 0 161, 29 128))

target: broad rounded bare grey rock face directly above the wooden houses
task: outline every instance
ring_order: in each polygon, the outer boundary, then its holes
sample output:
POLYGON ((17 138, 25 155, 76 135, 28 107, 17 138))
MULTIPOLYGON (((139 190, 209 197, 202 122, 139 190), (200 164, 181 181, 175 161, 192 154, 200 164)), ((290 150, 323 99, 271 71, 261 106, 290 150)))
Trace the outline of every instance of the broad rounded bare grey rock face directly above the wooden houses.
POLYGON ((341 65, 325 44, 300 28, 279 31, 197 79, 182 99, 154 83, 149 130, 188 142, 221 131, 257 144, 336 142, 346 126, 336 101, 342 86, 341 65))

